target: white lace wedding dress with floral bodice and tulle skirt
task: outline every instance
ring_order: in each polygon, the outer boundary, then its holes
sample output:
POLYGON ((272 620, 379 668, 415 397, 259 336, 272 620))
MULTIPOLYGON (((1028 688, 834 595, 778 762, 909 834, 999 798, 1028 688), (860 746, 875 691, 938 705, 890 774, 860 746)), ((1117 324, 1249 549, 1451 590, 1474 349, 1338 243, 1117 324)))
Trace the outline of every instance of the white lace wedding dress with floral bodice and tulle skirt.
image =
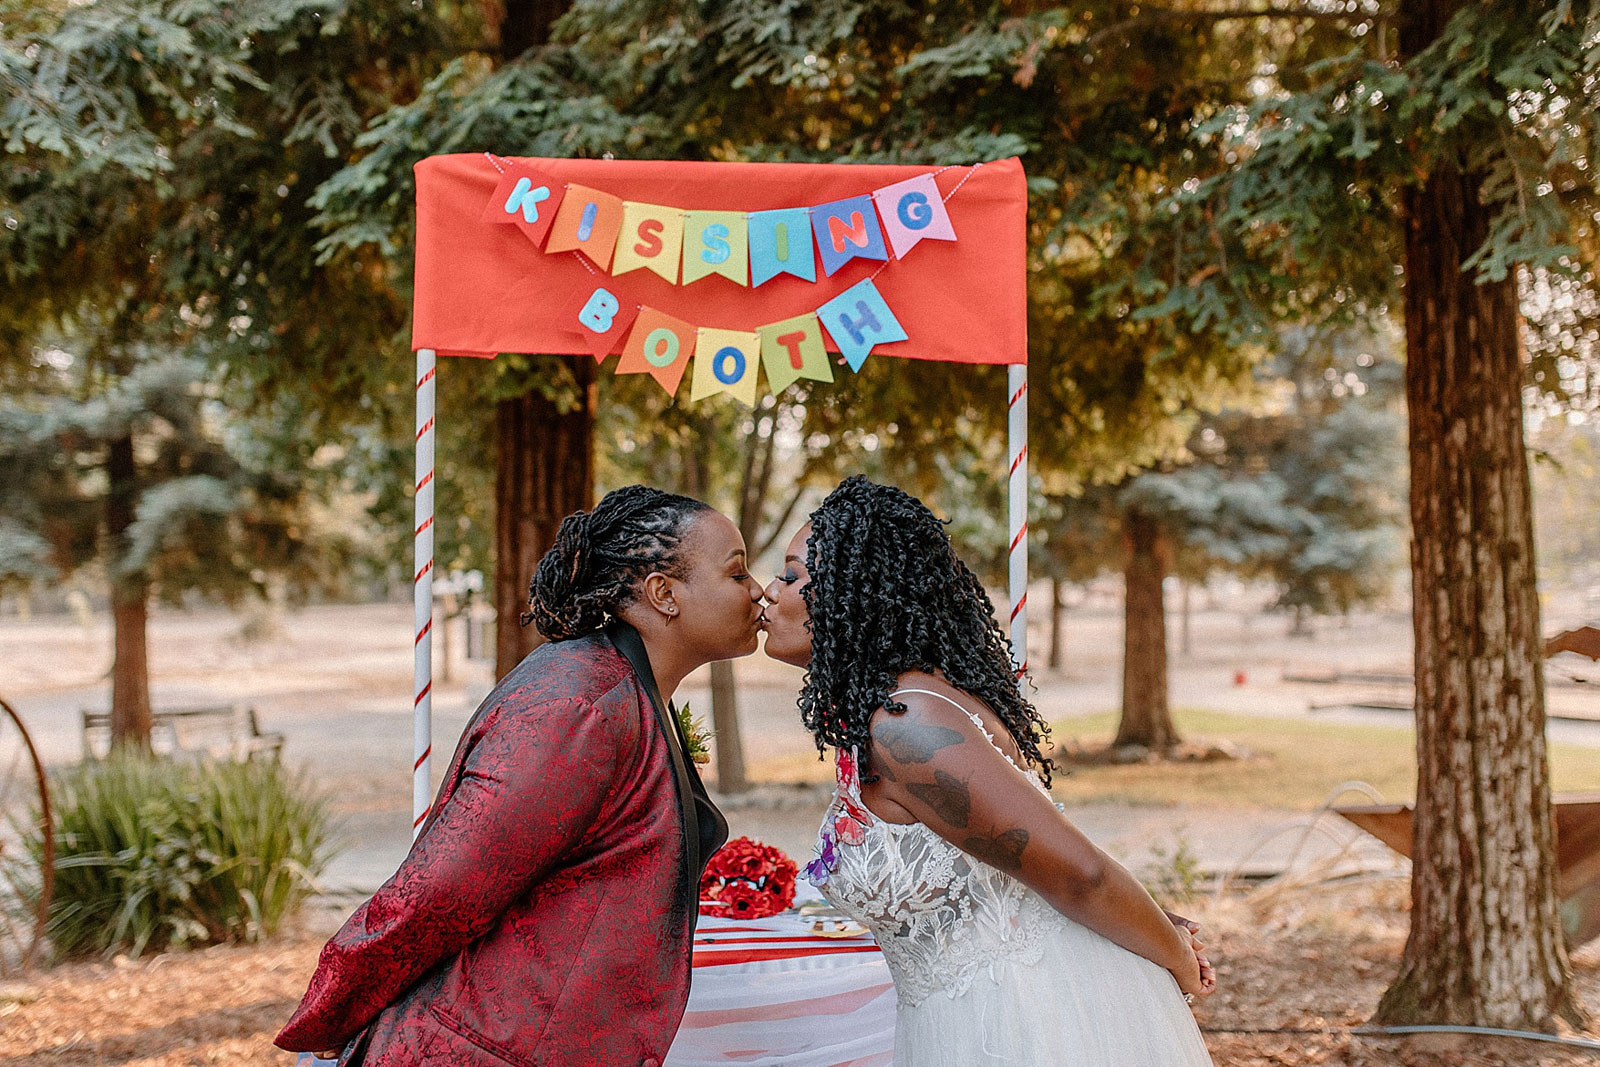
POLYGON ((896 1067, 1211 1064, 1170 973, 920 822, 875 817, 853 752, 838 753, 837 777, 806 877, 883 949, 899 1000, 896 1067))

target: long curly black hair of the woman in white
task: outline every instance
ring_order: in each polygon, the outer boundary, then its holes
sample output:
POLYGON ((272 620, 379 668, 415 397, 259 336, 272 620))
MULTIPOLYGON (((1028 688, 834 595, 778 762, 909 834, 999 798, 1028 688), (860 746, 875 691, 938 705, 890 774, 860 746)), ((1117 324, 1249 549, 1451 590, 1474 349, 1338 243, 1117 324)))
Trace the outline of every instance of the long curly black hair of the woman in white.
POLYGON ((854 747, 866 773, 872 712, 906 710, 890 697, 901 673, 938 672, 994 709, 1048 785, 1050 728, 1022 697, 1011 641, 944 523, 909 493, 861 475, 829 493, 810 522, 811 577, 800 595, 811 613, 811 665, 800 720, 818 752, 854 747))

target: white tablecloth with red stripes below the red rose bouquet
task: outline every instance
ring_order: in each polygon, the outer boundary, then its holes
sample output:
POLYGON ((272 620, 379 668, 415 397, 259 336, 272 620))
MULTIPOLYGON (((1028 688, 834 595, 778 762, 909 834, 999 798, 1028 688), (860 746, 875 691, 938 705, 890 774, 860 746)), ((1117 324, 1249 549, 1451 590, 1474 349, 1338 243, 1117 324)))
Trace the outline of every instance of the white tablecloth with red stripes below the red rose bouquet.
POLYGON ((810 918, 701 917, 683 1024, 666 1067, 890 1067, 894 982, 870 934, 810 918))

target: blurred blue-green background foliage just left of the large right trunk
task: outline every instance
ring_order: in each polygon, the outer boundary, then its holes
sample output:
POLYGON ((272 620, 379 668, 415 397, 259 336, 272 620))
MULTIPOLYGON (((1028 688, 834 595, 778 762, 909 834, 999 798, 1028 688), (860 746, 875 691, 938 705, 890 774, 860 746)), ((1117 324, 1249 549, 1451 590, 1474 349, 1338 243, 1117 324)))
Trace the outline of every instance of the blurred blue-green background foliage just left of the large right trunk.
POLYGON ((1179 571, 1270 581, 1298 622, 1384 600, 1405 561, 1405 418, 1389 331, 1283 330, 1258 406, 1190 438, 1195 462, 1133 482, 1179 571))

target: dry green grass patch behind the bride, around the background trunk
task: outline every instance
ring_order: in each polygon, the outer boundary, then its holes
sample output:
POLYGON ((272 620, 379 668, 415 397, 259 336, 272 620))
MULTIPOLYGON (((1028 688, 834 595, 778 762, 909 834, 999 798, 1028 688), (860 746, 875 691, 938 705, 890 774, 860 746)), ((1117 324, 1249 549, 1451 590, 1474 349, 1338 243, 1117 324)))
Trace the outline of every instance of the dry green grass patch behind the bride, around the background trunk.
MULTIPOLYGON (((1416 733, 1410 726, 1352 726, 1317 718, 1266 718, 1226 712, 1173 713, 1186 741, 1230 741, 1254 758, 1230 763, 1136 763, 1074 766, 1056 774, 1054 793, 1075 803, 1216 805, 1312 809, 1341 782, 1374 785, 1386 800, 1416 797, 1416 733)), ((1117 715, 1078 715, 1051 723, 1053 741, 1104 744, 1117 715)), ((1600 790, 1600 749, 1550 745, 1557 792, 1600 790)), ((1360 803, 1354 795, 1350 803, 1360 803)))

